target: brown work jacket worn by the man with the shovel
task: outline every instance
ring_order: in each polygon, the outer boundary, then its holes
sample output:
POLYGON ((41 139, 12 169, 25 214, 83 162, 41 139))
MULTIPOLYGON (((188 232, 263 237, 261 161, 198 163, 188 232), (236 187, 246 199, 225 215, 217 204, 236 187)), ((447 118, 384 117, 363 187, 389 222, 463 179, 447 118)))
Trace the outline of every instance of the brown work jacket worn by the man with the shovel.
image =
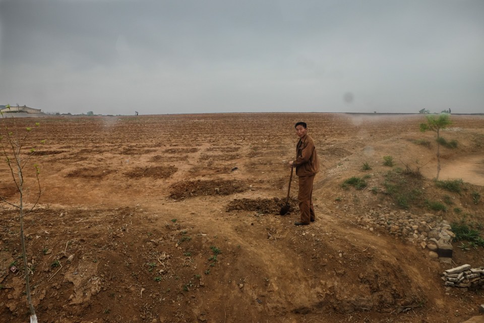
POLYGON ((316 153, 313 138, 309 135, 299 139, 296 145, 296 160, 292 165, 297 176, 313 176, 319 172, 319 158, 316 153))

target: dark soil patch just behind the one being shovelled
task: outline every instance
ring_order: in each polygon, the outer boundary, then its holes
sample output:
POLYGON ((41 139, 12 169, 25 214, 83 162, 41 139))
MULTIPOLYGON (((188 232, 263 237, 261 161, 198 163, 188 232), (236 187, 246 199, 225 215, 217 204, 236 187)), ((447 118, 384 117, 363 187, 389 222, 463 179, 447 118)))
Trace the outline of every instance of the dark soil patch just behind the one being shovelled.
POLYGON ((180 199, 201 195, 231 195, 246 191, 248 186, 242 181, 216 179, 183 181, 171 185, 170 188, 170 197, 180 199))

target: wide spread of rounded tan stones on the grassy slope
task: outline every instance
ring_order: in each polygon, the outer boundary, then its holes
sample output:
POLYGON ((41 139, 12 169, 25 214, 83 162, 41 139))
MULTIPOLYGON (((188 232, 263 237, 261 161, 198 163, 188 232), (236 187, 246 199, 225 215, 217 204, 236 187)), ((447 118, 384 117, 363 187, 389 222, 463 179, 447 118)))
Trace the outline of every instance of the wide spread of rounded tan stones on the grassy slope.
POLYGON ((455 234, 449 223, 432 213, 416 216, 408 211, 381 212, 371 209, 358 217, 358 224, 374 231, 385 230, 395 237, 418 243, 429 250, 429 256, 443 262, 452 260, 452 239, 455 234))

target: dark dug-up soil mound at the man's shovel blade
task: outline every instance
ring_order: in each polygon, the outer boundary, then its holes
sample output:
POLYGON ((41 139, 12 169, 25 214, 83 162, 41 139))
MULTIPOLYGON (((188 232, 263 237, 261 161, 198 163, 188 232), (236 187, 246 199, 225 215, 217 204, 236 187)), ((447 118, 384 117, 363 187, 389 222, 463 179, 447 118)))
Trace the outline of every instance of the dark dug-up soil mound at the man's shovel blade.
MULTIPOLYGON (((285 205, 286 200, 284 198, 240 198, 233 199, 227 204, 226 211, 230 212, 232 210, 246 210, 246 211, 257 211, 266 214, 278 214, 281 207, 285 205)), ((297 208, 297 199, 290 198, 289 201, 289 211, 297 208)))

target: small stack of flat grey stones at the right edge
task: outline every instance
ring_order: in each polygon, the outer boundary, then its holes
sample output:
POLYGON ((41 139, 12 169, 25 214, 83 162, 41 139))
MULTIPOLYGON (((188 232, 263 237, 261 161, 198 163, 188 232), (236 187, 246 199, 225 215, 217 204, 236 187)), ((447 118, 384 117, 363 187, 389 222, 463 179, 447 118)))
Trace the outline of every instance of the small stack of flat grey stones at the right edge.
POLYGON ((446 270, 443 275, 445 286, 469 288, 484 285, 484 267, 471 268, 470 264, 464 264, 446 270))

